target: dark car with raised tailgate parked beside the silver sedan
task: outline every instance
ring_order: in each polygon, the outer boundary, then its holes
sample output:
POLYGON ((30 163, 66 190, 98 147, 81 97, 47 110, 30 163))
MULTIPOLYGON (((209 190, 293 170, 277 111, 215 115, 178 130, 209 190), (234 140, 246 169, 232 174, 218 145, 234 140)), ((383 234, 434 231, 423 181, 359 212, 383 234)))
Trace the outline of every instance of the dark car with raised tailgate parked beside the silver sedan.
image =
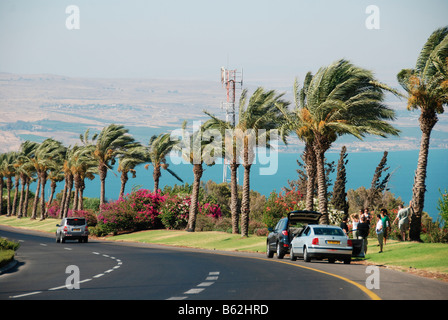
POLYGON ((266 240, 266 255, 272 258, 274 254, 278 259, 283 259, 289 253, 291 240, 299 234, 307 224, 316 224, 321 217, 320 212, 309 210, 295 210, 288 216, 278 221, 275 228, 268 228, 269 234, 266 240))

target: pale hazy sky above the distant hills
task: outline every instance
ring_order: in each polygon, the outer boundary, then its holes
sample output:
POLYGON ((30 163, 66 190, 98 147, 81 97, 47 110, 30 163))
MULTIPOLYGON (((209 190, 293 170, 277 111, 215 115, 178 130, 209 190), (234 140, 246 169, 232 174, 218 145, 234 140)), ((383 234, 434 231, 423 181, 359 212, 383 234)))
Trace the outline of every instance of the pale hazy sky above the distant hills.
POLYGON ((0 0, 0 72, 219 80, 228 66, 289 86, 346 58, 395 85, 447 17, 446 0, 0 0))

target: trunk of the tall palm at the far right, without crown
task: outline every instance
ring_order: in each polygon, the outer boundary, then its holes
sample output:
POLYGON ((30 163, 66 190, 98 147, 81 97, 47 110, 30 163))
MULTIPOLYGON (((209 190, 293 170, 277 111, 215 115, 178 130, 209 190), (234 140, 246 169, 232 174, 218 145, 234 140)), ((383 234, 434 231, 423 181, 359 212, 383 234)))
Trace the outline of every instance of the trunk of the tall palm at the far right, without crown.
POLYGON ((420 233, 422 227, 422 212, 425 204, 426 192, 426 168, 428 164, 429 142, 432 128, 438 121, 435 111, 422 111, 420 115, 420 129, 422 138, 420 141, 420 151, 418 154, 417 170, 415 171, 414 186, 412 188, 412 208, 409 238, 411 241, 421 241, 420 233))

